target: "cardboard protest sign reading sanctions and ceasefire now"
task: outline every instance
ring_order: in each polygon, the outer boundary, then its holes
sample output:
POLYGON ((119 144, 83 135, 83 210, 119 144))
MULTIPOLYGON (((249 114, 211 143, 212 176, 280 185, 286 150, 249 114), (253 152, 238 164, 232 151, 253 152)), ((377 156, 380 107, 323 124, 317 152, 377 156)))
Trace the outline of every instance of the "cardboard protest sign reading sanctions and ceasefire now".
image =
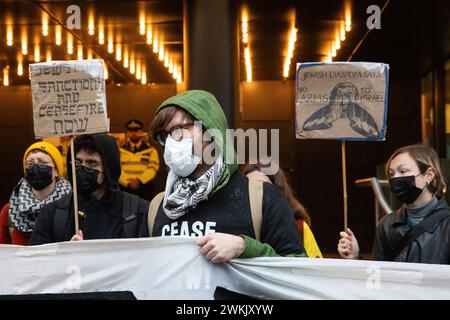
POLYGON ((103 61, 30 65, 36 138, 109 131, 103 61))

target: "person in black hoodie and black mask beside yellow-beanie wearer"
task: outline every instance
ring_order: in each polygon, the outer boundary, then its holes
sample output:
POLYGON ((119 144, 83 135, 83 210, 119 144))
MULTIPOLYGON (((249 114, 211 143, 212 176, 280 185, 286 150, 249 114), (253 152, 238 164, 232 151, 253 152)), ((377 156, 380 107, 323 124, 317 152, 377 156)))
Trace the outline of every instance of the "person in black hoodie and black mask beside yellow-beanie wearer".
POLYGON ((30 244, 138 237, 149 203, 120 191, 120 153, 115 139, 106 134, 83 135, 74 141, 74 151, 79 233, 75 234, 71 193, 42 208, 30 244))

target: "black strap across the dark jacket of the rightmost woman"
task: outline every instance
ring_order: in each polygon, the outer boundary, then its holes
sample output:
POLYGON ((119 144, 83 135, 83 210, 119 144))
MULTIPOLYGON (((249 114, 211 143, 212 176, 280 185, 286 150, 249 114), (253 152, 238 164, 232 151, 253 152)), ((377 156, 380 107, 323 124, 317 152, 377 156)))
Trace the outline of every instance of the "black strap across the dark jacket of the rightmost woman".
POLYGON ((439 211, 425 217, 422 222, 413 229, 410 229, 396 244, 394 244, 390 254, 391 260, 395 261, 395 258, 397 258, 405 248, 409 247, 421 234, 448 217, 450 217, 448 210, 439 211))

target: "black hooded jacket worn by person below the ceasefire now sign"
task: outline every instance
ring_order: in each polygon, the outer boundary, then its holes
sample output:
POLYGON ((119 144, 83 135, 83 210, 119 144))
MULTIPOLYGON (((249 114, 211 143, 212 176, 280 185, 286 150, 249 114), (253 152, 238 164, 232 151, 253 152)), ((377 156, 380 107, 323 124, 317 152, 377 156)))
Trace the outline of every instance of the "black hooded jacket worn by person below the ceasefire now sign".
MULTIPOLYGON (((102 157, 103 172, 108 183, 105 196, 92 201, 88 196, 78 195, 79 226, 85 240, 138 237, 143 218, 148 211, 146 200, 119 189, 120 152, 113 137, 106 134, 91 135, 102 157)), ((78 152, 75 141, 75 152, 78 152)), ((70 150, 67 156, 68 176, 72 176, 70 150)), ((73 195, 41 209, 30 244, 68 241, 75 234, 73 195)))

